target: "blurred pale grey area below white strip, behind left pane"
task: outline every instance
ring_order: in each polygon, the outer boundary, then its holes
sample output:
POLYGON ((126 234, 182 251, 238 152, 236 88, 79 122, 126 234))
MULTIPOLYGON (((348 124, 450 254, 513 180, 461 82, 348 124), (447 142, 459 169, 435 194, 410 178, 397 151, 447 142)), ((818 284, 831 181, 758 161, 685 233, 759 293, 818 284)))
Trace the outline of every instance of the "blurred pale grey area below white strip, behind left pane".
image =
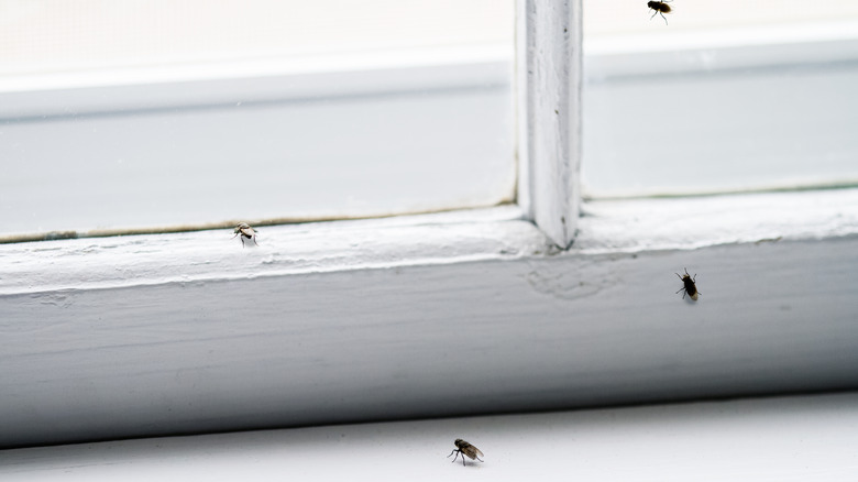
POLYGON ((510 57, 0 95, 0 240, 510 202, 510 57))

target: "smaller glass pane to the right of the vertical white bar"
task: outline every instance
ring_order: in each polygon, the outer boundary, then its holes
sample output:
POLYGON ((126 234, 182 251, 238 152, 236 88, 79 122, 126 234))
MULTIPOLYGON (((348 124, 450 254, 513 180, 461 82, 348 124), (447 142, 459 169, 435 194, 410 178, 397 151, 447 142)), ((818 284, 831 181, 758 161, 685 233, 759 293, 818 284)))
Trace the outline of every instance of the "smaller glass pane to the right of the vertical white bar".
POLYGON ((585 194, 858 182, 858 2, 584 1, 585 194))

